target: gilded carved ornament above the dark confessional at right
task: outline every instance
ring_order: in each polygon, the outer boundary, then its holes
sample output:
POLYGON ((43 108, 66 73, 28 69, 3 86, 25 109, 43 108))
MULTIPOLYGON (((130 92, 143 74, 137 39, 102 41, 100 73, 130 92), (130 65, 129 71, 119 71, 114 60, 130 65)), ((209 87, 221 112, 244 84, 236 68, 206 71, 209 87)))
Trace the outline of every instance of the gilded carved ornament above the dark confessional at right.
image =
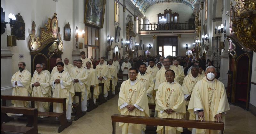
POLYGON ((235 0, 235 7, 231 3, 231 35, 234 34, 246 48, 256 52, 256 9, 255 0, 235 0))

